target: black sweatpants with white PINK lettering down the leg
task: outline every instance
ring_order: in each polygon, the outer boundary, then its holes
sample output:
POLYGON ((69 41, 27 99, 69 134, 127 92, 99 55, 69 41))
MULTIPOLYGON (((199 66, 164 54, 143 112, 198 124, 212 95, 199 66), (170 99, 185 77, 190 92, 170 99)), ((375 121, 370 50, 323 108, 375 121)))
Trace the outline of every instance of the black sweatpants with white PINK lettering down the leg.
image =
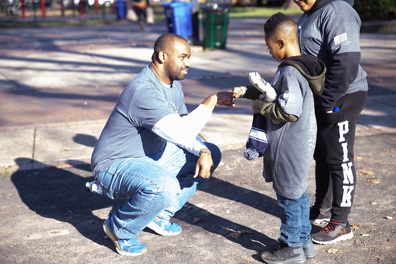
POLYGON ((367 92, 339 98, 338 112, 315 109, 318 134, 314 159, 316 208, 332 208, 331 221, 347 223, 356 188, 353 145, 356 123, 366 105, 367 92))

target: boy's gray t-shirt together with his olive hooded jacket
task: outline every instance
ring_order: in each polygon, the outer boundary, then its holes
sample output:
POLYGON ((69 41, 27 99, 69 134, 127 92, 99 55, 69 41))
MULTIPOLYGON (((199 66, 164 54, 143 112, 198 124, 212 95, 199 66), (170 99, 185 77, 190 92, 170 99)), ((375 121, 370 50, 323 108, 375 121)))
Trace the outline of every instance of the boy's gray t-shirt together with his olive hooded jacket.
POLYGON ((267 116, 261 117, 268 138, 263 176, 288 199, 297 199, 307 190, 317 130, 312 93, 320 93, 325 73, 324 63, 317 58, 288 57, 279 65, 271 83, 279 95, 276 102, 259 100, 262 92, 254 86, 247 86, 243 96, 255 100, 254 109, 267 116))

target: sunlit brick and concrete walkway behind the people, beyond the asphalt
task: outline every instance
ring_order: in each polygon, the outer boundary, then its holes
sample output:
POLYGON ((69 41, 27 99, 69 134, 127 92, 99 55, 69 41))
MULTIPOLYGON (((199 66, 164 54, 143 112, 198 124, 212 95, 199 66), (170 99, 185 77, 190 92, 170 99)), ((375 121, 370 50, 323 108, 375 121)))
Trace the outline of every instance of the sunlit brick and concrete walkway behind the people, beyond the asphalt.
MULTIPOLYGON (((264 19, 231 19, 226 50, 192 47, 182 82, 191 110, 209 94, 246 84, 247 72, 270 80, 278 63, 262 38, 264 19)), ((0 172, 89 163, 93 146, 118 95, 149 63, 165 24, 138 31, 108 26, 5 28, 0 34, 0 172)), ((369 100, 357 135, 395 133, 395 34, 362 34, 362 66, 369 100)), ((243 147, 248 102, 217 107, 202 131, 222 149, 243 147), (219 125, 220 124, 220 125, 219 125)))

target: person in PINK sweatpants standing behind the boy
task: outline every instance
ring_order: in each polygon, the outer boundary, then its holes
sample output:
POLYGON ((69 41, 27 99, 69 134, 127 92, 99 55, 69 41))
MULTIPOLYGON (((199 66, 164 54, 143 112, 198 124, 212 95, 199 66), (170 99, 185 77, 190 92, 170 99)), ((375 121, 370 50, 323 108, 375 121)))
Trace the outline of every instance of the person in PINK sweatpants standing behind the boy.
POLYGON ((315 96, 316 194, 309 218, 330 221, 312 240, 332 244, 353 237, 348 222, 356 187, 353 144, 368 90, 359 65, 361 21, 353 0, 293 1, 304 11, 297 21, 301 53, 320 58, 327 67, 323 94, 315 96))

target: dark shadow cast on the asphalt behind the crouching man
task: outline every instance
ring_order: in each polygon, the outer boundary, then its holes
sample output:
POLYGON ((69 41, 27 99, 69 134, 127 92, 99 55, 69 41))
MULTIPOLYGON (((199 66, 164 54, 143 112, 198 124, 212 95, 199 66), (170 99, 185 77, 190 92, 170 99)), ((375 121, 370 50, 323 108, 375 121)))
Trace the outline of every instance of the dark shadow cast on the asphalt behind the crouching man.
MULTIPOLYGON (((17 159, 16 162, 23 162, 23 159, 17 159)), ((91 170, 89 165, 79 168, 91 170)), ((110 243, 104 243, 103 231, 98 230, 105 219, 94 215, 93 211, 107 207, 114 210, 118 207, 117 201, 91 193, 85 183, 93 180, 93 177, 81 177, 59 168, 46 168, 18 170, 13 173, 11 180, 30 210, 42 217, 67 222, 84 237, 113 250, 110 243)))

